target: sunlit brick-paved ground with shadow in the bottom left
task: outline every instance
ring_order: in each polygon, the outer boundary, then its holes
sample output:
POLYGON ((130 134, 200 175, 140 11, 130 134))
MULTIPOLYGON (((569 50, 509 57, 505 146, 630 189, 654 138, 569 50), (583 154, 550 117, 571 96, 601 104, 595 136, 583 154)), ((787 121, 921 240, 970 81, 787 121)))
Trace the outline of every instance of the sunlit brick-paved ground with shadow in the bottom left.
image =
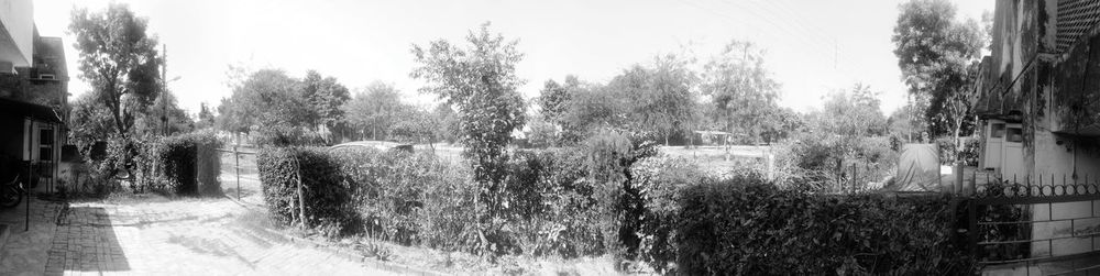
POLYGON ((223 198, 65 203, 0 210, 0 275, 380 275, 255 230, 262 214, 223 198), (147 202, 157 201, 157 202, 147 202), (2 240, 0 240, 2 241, 2 240))

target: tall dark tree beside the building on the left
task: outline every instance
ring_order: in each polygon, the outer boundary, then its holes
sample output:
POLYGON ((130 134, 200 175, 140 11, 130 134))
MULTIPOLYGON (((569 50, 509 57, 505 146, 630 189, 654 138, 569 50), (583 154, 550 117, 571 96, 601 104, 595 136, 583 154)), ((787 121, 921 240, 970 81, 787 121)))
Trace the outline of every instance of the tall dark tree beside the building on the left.
POLYGON ((76 9, 69 24, 69 33, 76 36, 80 78, 91 86, 95 101, 102 103, 88 107, 108 109, 112 129, 123 140, 161 91, 157 42, 146 35, 146 19, 120 3, 97 13, 76 9))

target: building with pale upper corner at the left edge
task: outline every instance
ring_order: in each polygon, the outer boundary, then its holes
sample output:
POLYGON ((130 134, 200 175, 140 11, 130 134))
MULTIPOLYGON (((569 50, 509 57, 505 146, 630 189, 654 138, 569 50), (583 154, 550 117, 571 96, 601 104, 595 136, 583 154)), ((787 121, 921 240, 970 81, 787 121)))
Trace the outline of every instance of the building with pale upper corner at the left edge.
POLYGON ((56 185, 68 119, 59 37, 38 35, 30 0, 0 0, 0 157, 37 165, 38 190, 56 185))

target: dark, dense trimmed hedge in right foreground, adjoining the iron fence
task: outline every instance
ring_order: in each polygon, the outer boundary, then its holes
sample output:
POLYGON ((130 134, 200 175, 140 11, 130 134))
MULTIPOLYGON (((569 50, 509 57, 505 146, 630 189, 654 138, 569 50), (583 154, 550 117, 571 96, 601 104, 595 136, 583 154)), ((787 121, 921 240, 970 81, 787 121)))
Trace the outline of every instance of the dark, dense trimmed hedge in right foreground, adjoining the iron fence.
POLYGON ((953 198, 832 196, 751 175, 676 195, 682 274, 969 274, 953 198))

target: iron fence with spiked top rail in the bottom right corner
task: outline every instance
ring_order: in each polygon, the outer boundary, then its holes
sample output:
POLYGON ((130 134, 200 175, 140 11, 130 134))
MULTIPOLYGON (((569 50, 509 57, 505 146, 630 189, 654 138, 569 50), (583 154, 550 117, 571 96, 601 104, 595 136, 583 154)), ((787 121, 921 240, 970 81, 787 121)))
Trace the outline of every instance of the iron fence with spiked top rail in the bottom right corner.
POLYGON ((967 242, 979 265, 1100 275, 1100 184, 1055 175, 969 180, 967 242))

